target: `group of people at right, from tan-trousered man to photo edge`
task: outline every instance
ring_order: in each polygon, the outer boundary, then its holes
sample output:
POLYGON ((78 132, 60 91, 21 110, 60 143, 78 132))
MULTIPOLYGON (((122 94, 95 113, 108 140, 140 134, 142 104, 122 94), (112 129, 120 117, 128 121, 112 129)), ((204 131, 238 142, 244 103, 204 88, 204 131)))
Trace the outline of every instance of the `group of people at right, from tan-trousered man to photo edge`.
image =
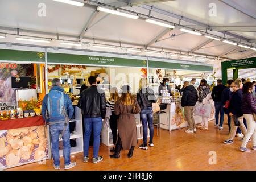
MULTIPOLYGON (((195 81, 195 80, 192 80, 195 81)), ((228 117, 229 138, 224 141, 225 144, 233 144, 234 137, 242 141, 240 150, 250 152, 246 148, 247 143, 253 140, 253 150, 256 150, 256 82, 249 79, 228 80, 227 85, 222 84, 222 80, 217 80, 217 85, 210 92, 210 86, 207 81, 202 79, 199 88, 194 87, 191 81, 184 82, 183 96, 181 106, 184 107, 184 115, 188 121, 188 130, 186 133, 196 133, 194 119, 194 110, 197 100, 203 105, 209 105, 210 98, 214 101, 215 123, 214 126, 223 130, 224 115, 228 117), (199 94, 199 96, 197 96, 199 94), (220 121, 220 122, 219 122, 220 121)), ((208 130, 208 119, 202 117, 201 125, 198 128, 208 130)))

